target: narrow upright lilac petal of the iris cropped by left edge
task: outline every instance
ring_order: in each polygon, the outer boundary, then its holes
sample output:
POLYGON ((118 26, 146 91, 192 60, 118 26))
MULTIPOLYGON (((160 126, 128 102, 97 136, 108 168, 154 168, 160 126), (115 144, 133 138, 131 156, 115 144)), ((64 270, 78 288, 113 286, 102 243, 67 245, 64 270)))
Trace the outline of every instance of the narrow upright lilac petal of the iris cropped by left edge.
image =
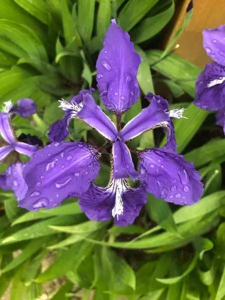
POLYGON ((10 117, 7 112, 0 112, 0 134, 5 141, 12 144, 15 142, 15 135, 10 125, 10 117))

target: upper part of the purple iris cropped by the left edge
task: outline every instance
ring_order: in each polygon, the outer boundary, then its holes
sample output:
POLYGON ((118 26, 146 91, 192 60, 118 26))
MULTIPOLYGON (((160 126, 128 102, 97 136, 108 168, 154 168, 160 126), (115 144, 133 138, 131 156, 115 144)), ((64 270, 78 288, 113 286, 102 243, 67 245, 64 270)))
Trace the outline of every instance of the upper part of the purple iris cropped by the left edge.
POLYGON ((3 112, 0 112, 0 134, 7 145, 0 147, 0 162, 13 150, 31 156, 36 152, 38 145, 30 145, 16 139, 11 125, 11 118, 14 114, 28 117, 36 112, 36 104, 33 100, 19 99, 16 106, 11 101, 4 103, 3 112))

